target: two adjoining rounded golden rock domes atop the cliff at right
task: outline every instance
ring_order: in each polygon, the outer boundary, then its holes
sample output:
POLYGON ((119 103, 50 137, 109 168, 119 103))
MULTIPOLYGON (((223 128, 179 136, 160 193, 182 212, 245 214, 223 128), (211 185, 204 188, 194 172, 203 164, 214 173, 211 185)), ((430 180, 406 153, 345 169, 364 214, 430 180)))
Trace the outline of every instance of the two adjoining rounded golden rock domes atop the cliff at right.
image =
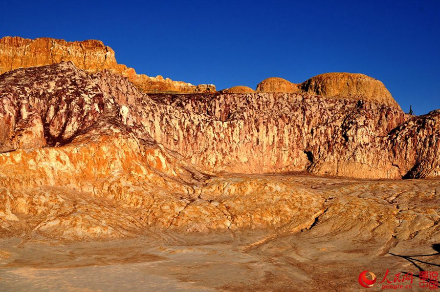
POLYGON ((272 77, 259 83, 257 91, 364 100, 400 109, 383 83, 364 74, 326 73, 314 76, 303 83, 291 83, 282 78, 272 77))

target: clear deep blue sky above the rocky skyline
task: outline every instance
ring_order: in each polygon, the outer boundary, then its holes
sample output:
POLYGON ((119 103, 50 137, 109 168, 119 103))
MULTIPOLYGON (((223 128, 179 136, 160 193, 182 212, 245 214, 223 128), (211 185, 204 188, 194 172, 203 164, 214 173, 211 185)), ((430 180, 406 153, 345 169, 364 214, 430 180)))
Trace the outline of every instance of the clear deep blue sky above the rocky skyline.
POLYGON ((0 37, 98 39, 149 76, 255 88, 325 72, 440 108, 440 1, 1 1, 0 37))

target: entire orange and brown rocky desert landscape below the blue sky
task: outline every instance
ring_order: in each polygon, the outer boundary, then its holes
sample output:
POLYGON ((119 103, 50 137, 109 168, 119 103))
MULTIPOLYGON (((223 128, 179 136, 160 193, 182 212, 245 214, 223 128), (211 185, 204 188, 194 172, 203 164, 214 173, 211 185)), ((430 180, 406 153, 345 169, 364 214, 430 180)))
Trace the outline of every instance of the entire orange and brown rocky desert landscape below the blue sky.
POLYGON ((440 110, 374 78, 216 91, 18 37, 0 73, 1 290, 360 291, 367 270, 379 291, 388 270, 422 291, 439 270, 440 110))

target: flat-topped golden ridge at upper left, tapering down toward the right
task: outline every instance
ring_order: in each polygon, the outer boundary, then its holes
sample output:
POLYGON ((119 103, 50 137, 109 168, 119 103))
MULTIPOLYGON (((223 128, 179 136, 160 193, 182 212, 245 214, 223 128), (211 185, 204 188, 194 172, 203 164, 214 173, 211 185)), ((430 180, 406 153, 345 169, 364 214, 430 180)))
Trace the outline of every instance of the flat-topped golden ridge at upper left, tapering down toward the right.
POLYGON ((118 64, 114 51, 101 41, 66 42, 50 38, 35 40, 20 37, 0 39, 0 74, 17 69, 71 61, 88 73, 105 69, 127 77, 143 92, 215 92, 213 84, 193 85, 162 76, 136 74, 133 68, 118 64))

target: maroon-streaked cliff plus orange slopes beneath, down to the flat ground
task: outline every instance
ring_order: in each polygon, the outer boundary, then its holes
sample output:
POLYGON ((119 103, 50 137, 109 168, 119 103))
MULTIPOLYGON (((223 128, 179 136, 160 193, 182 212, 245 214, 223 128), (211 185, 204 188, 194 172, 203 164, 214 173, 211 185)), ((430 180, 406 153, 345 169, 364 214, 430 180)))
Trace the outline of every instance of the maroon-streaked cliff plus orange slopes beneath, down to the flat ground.
POLYGON ((0 76, 0 231, 106 239, 149 228, 291 233, 319 221, 331 236, 370 230, 388 245, 438 226, 417 186, 321 188, 326 179, 304 185, 286 171, 439 177, 439 119, 360 97, 145 94, 72 62, 13 70, 0 76))

